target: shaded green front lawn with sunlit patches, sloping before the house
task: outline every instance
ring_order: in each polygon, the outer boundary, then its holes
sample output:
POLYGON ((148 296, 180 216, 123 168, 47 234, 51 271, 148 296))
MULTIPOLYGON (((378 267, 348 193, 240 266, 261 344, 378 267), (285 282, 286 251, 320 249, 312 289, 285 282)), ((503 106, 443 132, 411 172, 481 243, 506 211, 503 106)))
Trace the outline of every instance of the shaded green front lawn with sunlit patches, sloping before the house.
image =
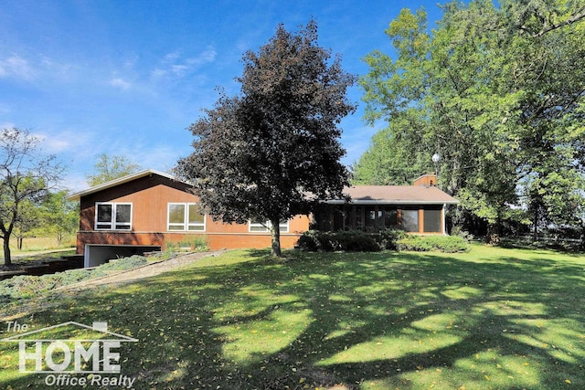
MULTIPOLYGON (((139 340, 119 350, 138 389, 585 388, 582 256, 286 255, 228 252, 2 316, 28 330, 107 321, 139 340)), ((0 343, 0 368, 0 387, 47 388, 18 372, 16 343, 0 343)))

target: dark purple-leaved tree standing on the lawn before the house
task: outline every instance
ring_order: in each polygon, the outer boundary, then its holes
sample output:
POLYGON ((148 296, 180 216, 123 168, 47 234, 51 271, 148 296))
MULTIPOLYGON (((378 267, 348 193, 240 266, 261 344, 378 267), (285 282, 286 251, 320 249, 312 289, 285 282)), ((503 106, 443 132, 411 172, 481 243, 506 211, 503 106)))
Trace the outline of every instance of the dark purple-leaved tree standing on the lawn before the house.
POLYGON ((281 256, 279 222, 306 213, 307 195, 341 196, 348 184, 337 125, 355 110, 346 99, 355 78, 317 45, 314 21, 298 33, 279 26, 243 63, 239 96, 222 95, 191 125, 195 151, 177 173, 214 218, 268 221, 272 254, 281 256))

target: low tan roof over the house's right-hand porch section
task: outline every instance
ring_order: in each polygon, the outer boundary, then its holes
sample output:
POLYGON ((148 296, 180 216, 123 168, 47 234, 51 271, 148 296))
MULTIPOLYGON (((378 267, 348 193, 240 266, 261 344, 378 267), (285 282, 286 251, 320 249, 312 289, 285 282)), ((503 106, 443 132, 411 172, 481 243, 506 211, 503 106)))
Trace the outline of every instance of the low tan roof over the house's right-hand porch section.
MULTIPOLYGON (((356 205, 456 205, 457 199, 434 186, 423 185, 356 185, 344 190, 356 205)), ((343 199, 325 203, 342 204, 343 199)))

